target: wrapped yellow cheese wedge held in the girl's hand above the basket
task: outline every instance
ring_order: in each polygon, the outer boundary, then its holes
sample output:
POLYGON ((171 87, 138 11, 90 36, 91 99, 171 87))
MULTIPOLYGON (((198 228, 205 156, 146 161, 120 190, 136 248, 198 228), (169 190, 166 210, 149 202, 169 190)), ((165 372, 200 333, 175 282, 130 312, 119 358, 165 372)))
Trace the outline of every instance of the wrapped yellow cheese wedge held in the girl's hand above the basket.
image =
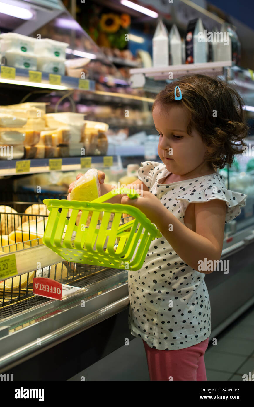
MULTIPOLYGON (((101 196, 101 188, 98 178, 98 170, 91 168, 82 177, 75 181, 70 193, 70 200, 93 201, 101 196)), ((92 211, 89 212, 92 216, 92 211)), ((100 212, 99 219, 102 220, 103 212, 100 212)))

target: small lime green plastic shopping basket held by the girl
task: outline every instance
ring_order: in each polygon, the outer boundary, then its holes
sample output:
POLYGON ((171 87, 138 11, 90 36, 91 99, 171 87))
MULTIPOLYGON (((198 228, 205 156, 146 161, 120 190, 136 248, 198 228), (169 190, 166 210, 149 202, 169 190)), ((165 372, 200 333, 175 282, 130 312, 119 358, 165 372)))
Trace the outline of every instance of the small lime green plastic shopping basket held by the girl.
MULTIPOLYGON (((120 193, 126 193, 126 189, 118 188, 91 202, 44 199, 43 203, 46 204, 50 212, 43 237, 44 245, 50 247, 69 262, 116 267, 118 269, 140 269, 151 241, 162 235, 138 208, 131 205, 104 202, 120 193), (61 208, 61 213, 59 208, 61 208), (70 219, 67 219, 70 209, 72 210, 70 219), (79 225, 75 226, 80 210, 82 213, 79 225), (93 211, 90 225, 84 227, 90 211, 93 211), (101 211, 104 212, 103 219, 99 229, 97 229, 96 225, 98 225, 101 211), (109 217, 112 212, 114 219, 111 228, 108 228, 109 217), (125 212, 134 219, 120 225, 122 213, 125 212), (129 229, 129 232, 126 229, 129 229), (117 243, 117 237, 119 241, 115 251, 114 245, 117 243)), ((131 199, 140 196, 134 189, 128 189, 127 195, 131 199)))

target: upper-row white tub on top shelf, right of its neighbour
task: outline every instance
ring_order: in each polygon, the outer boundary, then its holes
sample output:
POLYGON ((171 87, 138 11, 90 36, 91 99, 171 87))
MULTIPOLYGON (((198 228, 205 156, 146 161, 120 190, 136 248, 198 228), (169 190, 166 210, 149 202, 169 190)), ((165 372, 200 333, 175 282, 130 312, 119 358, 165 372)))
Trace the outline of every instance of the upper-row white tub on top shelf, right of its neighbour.
POLYGON ((66 42, 55 41, 54 39, 42 38, 35 44, 35 54, 45 57, 56 57, 66 59, 66 48, 69 46, 66 42))

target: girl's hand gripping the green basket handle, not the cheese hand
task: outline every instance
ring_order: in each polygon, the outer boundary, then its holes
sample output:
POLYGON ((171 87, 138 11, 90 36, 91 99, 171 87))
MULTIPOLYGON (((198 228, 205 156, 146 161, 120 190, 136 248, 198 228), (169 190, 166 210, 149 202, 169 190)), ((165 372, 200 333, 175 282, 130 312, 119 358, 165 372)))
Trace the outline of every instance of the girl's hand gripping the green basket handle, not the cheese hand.
POLYGON ((149 191, 142 190, 142 196, 135 199, 129 199, 127 195, 122 194, 121 204, 136 206, 136 208, 140 209, 155 225, 162 216, 162 204, 160 200, 149 191))

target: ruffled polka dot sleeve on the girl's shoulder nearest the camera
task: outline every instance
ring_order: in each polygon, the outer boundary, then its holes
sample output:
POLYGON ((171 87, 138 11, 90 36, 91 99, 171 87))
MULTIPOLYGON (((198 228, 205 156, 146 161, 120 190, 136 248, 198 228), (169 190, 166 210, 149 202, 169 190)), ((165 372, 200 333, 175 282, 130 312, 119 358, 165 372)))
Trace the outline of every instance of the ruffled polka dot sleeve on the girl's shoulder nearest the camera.
POLYGON ((246 198, 247 195, 239 192, 233 192, 226 188, 212 187, 195 192, 192 190, 190 193, 186 192, 182 195, 177 195, 175 199, 182 201, 184 212, 190 202, 207 202, 211 199, 221 199, 227 204, 225 223, 228 223, 240 215, 241 207, 245 206, 246 198))

